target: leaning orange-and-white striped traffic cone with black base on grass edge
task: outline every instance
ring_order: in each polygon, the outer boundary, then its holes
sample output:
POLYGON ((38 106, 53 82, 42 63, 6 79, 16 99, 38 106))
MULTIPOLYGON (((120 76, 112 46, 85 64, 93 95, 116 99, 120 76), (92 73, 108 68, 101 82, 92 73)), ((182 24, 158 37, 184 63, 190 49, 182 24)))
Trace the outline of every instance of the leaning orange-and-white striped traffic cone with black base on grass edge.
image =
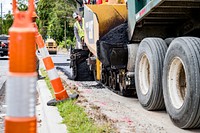
POLYGON ((56 97, 56 99, 50 100, 47 105, 54 106, 61 101, 78 98, 78 94, 76 93, 70 96, 67 94, 66 89, 64 89, 61 79, 58 76, 56 69, 54 68, 54 63, 49 55, 47 48, 45 47, 42 36, 39 33, 36 35, 36 43, 42 55, 44 65, 51 81, 51 85, 54 89, 54 95, 56 97))

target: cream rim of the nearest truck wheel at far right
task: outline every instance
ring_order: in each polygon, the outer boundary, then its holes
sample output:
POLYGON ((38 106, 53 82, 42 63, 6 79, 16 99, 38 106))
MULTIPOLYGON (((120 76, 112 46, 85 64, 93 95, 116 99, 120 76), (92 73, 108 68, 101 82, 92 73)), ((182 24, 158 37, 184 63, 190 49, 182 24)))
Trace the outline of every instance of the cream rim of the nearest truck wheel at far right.
POLYGON ((172 105, 179 109, 182 107, 186 94, 187 84, 183 61, 175 57, 169 68, 168 91, 172 105))

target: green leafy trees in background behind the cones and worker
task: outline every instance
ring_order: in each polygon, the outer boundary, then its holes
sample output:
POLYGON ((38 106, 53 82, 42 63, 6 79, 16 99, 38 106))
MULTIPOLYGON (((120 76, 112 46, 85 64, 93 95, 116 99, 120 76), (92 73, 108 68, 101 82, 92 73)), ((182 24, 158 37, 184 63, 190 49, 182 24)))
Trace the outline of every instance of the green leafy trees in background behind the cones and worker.
MULTIPOLYGON (((28 0, 18 0, 19 10, 27 10, 27 3, 28 0)), ((59 44, 62 44, 62 42, 64 42, 64 32, 66 32, 67 46, 69 46, 70 43, 74 44, 74 20, 71 16, 73 11, 75 11, 75 5, 74 0, 40 0, 38 2, 37 14, 39 16, 39 20, 37 20, 37 24, 39 32, 44 39, 49 36, 56 40, 56 42, 61 42, 59 44), (65 22, 66 31, 64 30, 65 22)), ((6 14, 3 20, 3 32, 1 31, 0 33, 8 34, 8 30, 12 23, 12 14, 6 14)), ((1 27, 2 25, 0 24, 0 29, 1 27)))

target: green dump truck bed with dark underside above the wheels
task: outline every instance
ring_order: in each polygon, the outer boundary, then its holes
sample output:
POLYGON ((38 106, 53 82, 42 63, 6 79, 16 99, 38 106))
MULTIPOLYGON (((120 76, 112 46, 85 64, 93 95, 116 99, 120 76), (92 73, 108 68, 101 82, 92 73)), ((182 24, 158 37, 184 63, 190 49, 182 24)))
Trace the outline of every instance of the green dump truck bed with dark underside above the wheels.
MULTIPOLYGON (((129 8, 136 9, 133 6, 129 8)), ((200 0, 151 0, 135 13, 135 18, 130 18, 131 40, 141 41, 149 36, 199 36, 199 16, 200 0)))

